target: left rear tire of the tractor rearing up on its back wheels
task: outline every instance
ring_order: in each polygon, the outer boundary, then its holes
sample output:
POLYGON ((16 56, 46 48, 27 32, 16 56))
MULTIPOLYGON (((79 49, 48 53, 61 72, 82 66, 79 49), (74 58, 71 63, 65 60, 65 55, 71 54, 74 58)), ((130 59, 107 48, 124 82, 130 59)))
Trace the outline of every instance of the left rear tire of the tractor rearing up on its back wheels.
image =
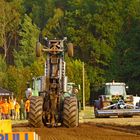
POLYGON ((42 122, 43 98, 41 96, 32 96, 30 98, 29 125, 39 128, 43 126, 42 122))

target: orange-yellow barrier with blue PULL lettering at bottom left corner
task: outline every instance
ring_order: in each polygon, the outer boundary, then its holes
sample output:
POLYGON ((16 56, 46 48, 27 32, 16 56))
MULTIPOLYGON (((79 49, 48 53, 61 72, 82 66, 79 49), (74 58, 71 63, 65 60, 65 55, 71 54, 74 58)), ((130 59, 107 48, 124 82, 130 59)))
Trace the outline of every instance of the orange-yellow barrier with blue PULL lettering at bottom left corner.
POLYGON ((0 140, 40 140, 35 132, 0 133, 0 140))

